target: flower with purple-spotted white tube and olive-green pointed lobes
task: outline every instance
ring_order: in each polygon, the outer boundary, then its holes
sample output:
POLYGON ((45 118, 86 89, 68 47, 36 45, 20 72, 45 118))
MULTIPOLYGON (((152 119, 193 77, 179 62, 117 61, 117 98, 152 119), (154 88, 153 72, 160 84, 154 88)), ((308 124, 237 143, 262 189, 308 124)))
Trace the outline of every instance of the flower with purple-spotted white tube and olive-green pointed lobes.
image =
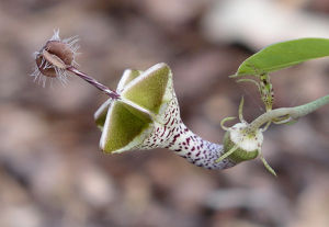
POLYGON ((216 162, 224 155, 224 146, 201 138, 184 125, 172 72, 166 64, 146 71, 125 70, 116 92, 121 99, 109 99, 94 114, 104 152, 168 148, 207 169, 226 169, 237 163, 230 158, 216 162))

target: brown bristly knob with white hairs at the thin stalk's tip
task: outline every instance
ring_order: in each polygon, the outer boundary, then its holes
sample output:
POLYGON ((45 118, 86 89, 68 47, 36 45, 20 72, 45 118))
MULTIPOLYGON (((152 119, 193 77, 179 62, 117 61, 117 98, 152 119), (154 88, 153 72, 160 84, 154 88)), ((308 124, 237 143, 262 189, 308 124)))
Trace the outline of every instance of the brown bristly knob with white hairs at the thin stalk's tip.
POLYGON ((59 31, 54 31, 53 37, 47 41, 39 52, 34 53, 35 70, 31 75, 34 81, 46 84, 47 78, 58 79, 61 83, 67 82, 66 69, 77 66, 75 58, 79 46, 77 36, 60 39, 59 31))

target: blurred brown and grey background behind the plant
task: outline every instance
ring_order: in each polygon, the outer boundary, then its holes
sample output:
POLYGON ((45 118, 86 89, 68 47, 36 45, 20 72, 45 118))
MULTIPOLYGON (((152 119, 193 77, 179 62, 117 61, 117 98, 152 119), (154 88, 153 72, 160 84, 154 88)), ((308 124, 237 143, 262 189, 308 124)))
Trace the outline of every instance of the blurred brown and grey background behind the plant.
MULTIPOLYGON (((260 48, 329 37, 326 0, 1 0, 1 227, 325 227, 329 223, 329 106, 292 126, 271 126, 260 160, 225 171, 169 150, 103 155, 93 113, 106 100, 71 77, 33 82, 33 53, 52 37, 79 35, 80 69, 115 89, 126 68, 164 61, 182 120, 222 143, 219 122, 263 112, 252 84, 228 76, 260 48)), ((275 107, 329 91, 329 59, 272 75, 275 107)))

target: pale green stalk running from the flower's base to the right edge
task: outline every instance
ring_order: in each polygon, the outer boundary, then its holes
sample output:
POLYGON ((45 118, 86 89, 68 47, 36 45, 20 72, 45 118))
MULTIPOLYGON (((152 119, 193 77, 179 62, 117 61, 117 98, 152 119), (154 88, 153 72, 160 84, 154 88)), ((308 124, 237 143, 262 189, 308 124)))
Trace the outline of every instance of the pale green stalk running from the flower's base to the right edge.
POLYGON ((260 128, 263 124, 268 122, 272 122, 277 117, 287 116, 290 120, 297 120, 302 116, 305 116, 317 109, 329 103, 329 94, 322 98, 319 98, 313 102, 306 103, 304 105, 298 105, 295 107, 281 107, 269 111, 259 117, 257 117, 253 122, 251 122, 248 126, 248 132, 252 133, 260 128))

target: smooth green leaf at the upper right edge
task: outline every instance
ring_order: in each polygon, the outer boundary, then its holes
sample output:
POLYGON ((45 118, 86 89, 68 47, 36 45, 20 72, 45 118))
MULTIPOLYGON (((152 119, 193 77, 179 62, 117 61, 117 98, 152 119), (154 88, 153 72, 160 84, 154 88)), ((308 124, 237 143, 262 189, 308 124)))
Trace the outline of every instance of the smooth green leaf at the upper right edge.
POLYGON ((259 76, 329 56, 329 38, 300 38, 270 45, 246 59, 232 77, 259 76))

